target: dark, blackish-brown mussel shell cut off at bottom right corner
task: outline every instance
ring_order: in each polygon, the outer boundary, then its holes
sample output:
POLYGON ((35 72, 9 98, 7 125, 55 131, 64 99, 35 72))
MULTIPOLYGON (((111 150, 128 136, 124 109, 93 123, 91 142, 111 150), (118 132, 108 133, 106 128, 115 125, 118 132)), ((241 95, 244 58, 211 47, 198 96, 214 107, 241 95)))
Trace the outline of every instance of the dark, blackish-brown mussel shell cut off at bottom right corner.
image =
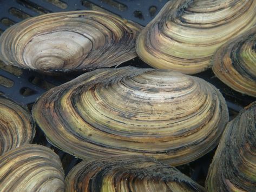
POLYGON ((209 168, 207 191, 255 191, 256 102, 227 124, 209 168))

